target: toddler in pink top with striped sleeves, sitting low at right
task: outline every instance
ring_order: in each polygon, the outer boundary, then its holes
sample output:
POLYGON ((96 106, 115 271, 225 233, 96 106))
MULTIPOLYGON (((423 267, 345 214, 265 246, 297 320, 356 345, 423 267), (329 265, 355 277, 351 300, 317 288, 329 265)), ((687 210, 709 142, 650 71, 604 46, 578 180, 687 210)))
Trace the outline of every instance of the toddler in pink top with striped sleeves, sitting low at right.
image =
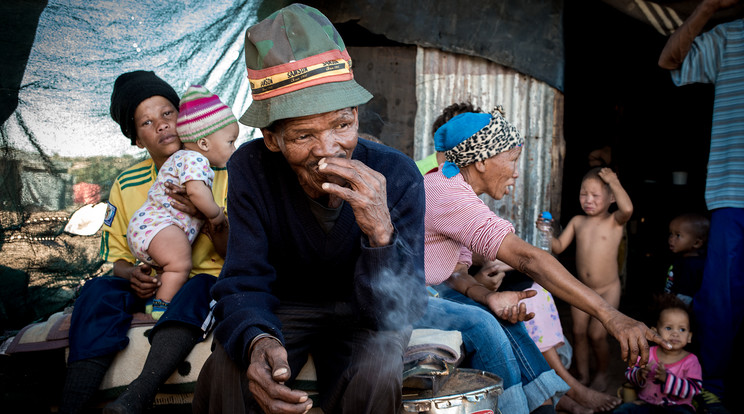
POLYGON ((639 400, 621 405, 615 413, 695 413, 692 398, 702 390, 703 372, 697 357, 684 349, 692 340, 687 305, 671 294, 657 301, 658 318, 652 329, 672 349, 652 346, 648 365, 628 367, 625 378, 637 388, 639 400))

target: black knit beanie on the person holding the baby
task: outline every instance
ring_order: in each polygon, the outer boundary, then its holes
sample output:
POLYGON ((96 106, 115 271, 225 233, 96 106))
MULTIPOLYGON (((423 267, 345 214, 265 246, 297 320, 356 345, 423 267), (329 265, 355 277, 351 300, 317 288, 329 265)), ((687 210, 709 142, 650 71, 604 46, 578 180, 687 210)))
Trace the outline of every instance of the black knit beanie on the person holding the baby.
POLYGON ((166 81, 155 72, 135 70, 119 75, 111 93, 111 118, 121 127, 121 132, 136 145, 134 111, 145 99, 160 95, 178 109, 179 97, 166 81))

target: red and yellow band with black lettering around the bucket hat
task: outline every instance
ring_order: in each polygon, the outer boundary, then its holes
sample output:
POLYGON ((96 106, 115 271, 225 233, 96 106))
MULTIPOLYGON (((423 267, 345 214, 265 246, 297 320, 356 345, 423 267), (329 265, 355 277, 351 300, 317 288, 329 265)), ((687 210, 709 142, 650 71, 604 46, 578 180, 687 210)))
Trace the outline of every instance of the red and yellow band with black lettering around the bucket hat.
POLYGON ((254 100, 283 95, 309 86, 354 79, 346 50, 330 50, 267 69, 248 69, 254 100))

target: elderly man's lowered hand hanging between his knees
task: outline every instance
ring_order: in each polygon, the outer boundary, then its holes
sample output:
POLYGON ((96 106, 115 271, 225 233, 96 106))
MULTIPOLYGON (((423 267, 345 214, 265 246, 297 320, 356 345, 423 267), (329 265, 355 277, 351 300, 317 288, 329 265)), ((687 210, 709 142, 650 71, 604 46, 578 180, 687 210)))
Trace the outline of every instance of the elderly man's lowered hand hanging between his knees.
POLYGON ((306 413, 313 402, 304 391, 284 385, 289 380, 287 351, 273 338, 256 342, 248 366, 248 388, 266 413, 306 413))

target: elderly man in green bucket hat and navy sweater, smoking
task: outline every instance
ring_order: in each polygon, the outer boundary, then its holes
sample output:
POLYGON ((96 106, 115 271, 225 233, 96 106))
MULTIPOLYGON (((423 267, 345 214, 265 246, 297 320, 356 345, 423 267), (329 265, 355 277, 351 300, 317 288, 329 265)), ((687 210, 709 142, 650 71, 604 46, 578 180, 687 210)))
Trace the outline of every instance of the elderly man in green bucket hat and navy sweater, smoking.
POLYGON ((318 10, 281 9, 245 43, 253 102, 240 121, 263 140, 228 164, 217 345, 194 412, 306 412, 312 402, 291 387, 308 354, 324 412, 396 412, 426 300, 421 175, 358 138, 357 106, 372 96, 318 10))

